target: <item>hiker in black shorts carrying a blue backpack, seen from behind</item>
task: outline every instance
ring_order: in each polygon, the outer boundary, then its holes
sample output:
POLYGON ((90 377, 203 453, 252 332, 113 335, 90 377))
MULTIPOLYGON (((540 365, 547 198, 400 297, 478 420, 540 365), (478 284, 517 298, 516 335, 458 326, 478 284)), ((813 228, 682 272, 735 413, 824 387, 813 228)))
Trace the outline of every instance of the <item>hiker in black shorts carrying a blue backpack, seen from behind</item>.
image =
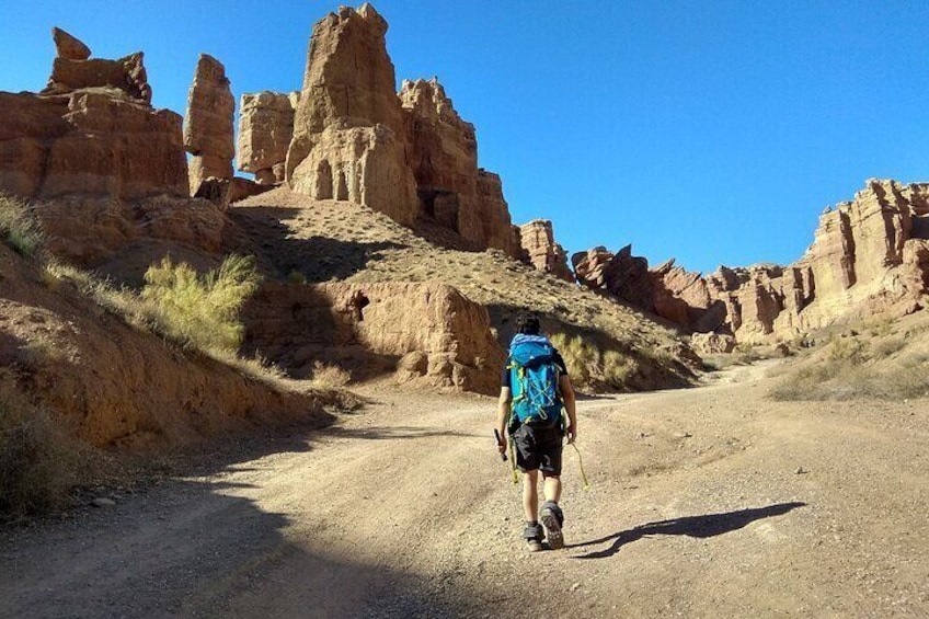
POLYGON ((577 416, 574 389, 564 359, 541 334, 539 319, 531 314, 516 321, 516 336, 503 368, 497 417, 497 447, 506 452, 504 431, 515 450, 515 466, 523 471, 523 511, 526 529, 523 537, 529 550, 542 549, 542 528, 552 549, 564 546, 561 528, 564 514, 561 498, 562 438, 574 443, 577 416), (563 412, 567 413, 567 426, 563 412), (539 471, 544 480, 546 502, 539 509, 539 471), (541 521, 541 526, 539 523, 541 521))

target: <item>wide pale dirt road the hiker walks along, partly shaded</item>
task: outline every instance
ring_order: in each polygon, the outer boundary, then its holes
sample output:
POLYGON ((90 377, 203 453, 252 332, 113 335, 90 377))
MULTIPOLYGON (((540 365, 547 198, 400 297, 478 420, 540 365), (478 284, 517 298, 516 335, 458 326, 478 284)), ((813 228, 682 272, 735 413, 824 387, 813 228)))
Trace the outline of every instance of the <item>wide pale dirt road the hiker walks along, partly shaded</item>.
POLYGON ((3 531, 2 617, 927 617, 929 405, 741 370, 580 406, 567 548, 524 552, 489 399, 337 426, 3 531))

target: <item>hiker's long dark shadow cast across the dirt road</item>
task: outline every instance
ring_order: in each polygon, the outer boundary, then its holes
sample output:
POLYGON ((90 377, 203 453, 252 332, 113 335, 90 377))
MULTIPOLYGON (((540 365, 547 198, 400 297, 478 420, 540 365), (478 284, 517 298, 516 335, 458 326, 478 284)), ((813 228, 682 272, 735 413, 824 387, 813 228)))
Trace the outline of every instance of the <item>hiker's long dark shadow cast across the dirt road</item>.
POLYGON ((604 559, 612 557, 619 549, 627 543, 650 537, 654 535, 686 535, 688 537, 714 537, 722 534, 727 534, 736 529, 741 529, 749 523, 769 518, 771 516, 781 516, 796 507, 803 507, 806 503, 778 503, 767 507, 755 507, 750 509, 738 509, 737 512, 726 512, 724 514, 707 514, 706 516, 687 516, 685 518, 672 518, 670 520, 661 520, 657 523, 649 523, 640 525, 632 529, 619 531, 617 534, 565 546, 565 548, 584 548, 587 546, 596 546, 612 541, 606 550, 597 550, 582 554, 577 559, 604 559))

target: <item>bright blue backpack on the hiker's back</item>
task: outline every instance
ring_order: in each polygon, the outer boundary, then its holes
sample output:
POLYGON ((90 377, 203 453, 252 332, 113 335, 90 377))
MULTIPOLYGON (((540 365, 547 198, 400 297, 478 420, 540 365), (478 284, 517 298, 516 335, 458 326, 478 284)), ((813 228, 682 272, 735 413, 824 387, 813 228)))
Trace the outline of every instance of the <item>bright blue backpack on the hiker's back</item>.
POLYGON ((554 348, 543 335, 519 334, 506 359, 513 390, 511 427, 524 423, 562 424, 562 401, 558 378, 562 370, 554 362, 554 348))

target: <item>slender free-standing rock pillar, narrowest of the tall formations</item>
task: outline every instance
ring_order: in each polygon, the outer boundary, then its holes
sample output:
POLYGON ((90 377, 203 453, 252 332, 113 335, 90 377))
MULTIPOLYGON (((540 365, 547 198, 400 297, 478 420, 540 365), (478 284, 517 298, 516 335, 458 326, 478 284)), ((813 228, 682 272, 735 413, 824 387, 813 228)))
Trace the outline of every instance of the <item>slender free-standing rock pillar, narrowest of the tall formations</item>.
POLYGON ((191 195, 196 195, 207 179, 232 177, 234 112, 236 99, 226 67, 213 56, 200 54, 184 117, 184 148, 193 156, 190 161, 191 195))

